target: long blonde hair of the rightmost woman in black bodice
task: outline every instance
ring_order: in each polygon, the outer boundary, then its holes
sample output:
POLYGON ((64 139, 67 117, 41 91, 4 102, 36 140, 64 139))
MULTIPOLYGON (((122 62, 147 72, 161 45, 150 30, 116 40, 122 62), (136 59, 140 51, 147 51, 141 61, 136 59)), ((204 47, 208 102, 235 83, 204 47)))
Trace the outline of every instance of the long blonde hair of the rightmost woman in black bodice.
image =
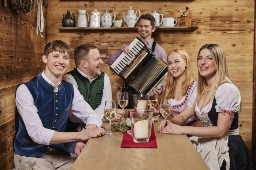
MULTIPOLYGON (((214 99, 215 93, 218 87, 222 83, 232 83, 232 81, 229 79, 226 57, 222 47, 220 47, 217 44, 205 44, 199 49, 197 56, 199 56, 200 52, 203 49, 208 49, 212 54, 212 57, 214 58, 214 63, 216 67, 216 73, 215 73, 216 76, 215 76, 214 84, 211 86, 211 89, 209 91, 209 95, 203 101, 200 109, 208 105, 214 99)), ((197 61, 198 61, 198 58, 197 58, 197 61)), ((207 86, 207 82, 205 77, 201 76, 197 69, 197 95, 196 95, 196 101, 194 103, 194 106, 196 104, 199 105, 199 102, 202 99, 202 96, 204 95, 206 86, 207 86)))

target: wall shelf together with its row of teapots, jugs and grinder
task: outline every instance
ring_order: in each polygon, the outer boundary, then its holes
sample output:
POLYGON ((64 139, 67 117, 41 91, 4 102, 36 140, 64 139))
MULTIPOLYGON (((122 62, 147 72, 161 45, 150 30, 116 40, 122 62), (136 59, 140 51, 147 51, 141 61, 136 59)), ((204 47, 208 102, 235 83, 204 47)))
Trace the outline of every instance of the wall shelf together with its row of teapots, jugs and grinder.
MULTIPOLYGON (((186 7, 186 11, 188 7, 186 7)), ((186 12, 185 11, 185 12, 186 12)), ((122 27, 123 20, 116 20, 116 14, 110 13, 108 10, 101 16, 98 10, 94 10, 90 13, 90 27, 88 27, 89 16, 86 14, 86 10, 78 10, 78 21, 77 27, 75 22, 74 14, 71 14, 68 10, 63 14, 62 26, 59 27, 60 31, 137 31, 138 28, 134 27, 141 13, 140 10, 134 11, 132 7, 128 10, 127 15, 123 12, 124 22, 127 27, 122 27), (102 23, 103 27, 100 27, 102 23), (114 24, 114 27, 112 25, 114 24)), ((163 14, 159 14, 154 11, 151 13, 156 20, 156 31, 194 31, 198 29, 198 26, 191 26, 191 18, 187 15, 178 17, 178 20, 175 20, 172 17, 164 18, 163 14), (160 20, 161 19, 161 20, 160 20)))

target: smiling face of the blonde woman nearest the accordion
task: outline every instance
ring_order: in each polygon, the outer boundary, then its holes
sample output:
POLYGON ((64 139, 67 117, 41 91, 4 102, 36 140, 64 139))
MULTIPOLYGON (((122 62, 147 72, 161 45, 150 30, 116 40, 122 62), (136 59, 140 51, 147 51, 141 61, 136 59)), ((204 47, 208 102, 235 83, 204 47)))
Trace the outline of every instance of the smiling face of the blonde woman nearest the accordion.
POLYGON ((180 53, 173 51, 168 55, 168 70, 173 77, 182 77, 185 73, 186 64, 180 53))

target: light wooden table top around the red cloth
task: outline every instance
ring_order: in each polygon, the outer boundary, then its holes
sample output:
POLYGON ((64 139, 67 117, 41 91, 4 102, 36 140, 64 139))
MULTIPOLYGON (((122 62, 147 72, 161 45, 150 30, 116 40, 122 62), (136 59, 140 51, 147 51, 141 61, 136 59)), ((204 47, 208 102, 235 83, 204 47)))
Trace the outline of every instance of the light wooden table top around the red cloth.
MULTIPOLYGON (((162 134, 154 130, 158 148, 121 148, 123 134, 90 138, 72 170, 208 170, 185 134, 162 134)), ((104 123, 109 128, 109 124, 104 123)), ((108 132, 108 131, 106 131, 108 132)))

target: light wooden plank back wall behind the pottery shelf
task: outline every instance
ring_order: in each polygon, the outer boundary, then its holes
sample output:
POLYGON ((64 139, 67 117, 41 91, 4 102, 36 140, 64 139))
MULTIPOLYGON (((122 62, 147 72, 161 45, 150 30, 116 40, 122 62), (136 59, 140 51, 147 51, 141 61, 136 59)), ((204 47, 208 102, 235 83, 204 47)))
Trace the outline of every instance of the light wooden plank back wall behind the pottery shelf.
MULTIPOLYGON (((127 0, 48 0, 47 9, 47 42, 60 39, 72 48, 84 43, 92 43, 98 47, 103 60, 116 51, 122 44, 138 36, 137 32, 60 32, 62 14, 66 10, 75 13, 94 9, 103 14, 106 10, 114 12, 117 19, 122 19, 121 12, 127 14, 130 6, 140 10, 142 14, 157 12, 164 17, 177 18, 185 7, 192 17, 192 25, 199 26, 194 32, 158 31, 153 34, 154 40, 167 53, 175 48, 185 49, 192 60, 193 73, 196 76, 196 55, 205 43, 217 43, 226 52, 230 77, 242 92, 242 111, 239 117, 240 134, 249 149, 252 144, 252 85, 253 85, 253 56, 254 56, 254 0, 195 0, 195 1, 127 1, 127 0)), ((126 24, 123 23, 123 26, 126 24)), ((75 67, 71 61, 69 70, 75 67)), ((113 98, 118 98, 122 88, 122 80, 104 65, 102 70, 110 76, 113 98)))

